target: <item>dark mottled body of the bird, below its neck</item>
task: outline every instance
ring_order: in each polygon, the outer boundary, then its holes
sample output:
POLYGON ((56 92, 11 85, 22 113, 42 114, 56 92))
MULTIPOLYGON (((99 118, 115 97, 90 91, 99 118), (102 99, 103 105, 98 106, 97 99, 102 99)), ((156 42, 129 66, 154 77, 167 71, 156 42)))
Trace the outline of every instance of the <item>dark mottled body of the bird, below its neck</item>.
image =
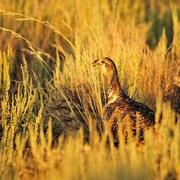
POLYGON ((130 99, 125 94, 114 102, 104 106, 104 120, 110 124, 116 143, 119 143, 119 130, 128 136, 129 127, 133 135, 137 134, 137 142, 142 141, 144 130, 154 125, 154 112, 144 104, 130 99))

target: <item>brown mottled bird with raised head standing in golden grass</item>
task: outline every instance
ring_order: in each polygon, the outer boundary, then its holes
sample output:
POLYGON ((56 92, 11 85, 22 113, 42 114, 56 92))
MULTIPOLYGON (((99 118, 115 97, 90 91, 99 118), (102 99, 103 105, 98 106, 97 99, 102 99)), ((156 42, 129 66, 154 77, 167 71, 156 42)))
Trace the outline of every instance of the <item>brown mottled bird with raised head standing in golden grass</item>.
POLYGON ((137 142, 144 141, 144 131, 155 124, 154 111, 124 93, 116 65, 111 58, 96 59, 92 66, 99 67, 105 78, 107 103, 103 107, 103 122, 109 124, 115 146, 119 145, 120 131, 123 131, 125 139, 128 138, 128 128, 134 136, 139 130, 137 142))

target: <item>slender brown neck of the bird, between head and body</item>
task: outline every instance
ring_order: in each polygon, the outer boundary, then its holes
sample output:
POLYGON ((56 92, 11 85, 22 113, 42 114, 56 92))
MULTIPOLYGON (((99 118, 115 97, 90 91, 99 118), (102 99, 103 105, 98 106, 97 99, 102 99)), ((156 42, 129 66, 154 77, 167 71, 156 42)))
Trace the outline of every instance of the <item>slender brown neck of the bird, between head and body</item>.
POLYGON ((117 71, 115 71, 108 82, 108 103, 116 101, 122 94, 124 93, 119 82, 117 71))

